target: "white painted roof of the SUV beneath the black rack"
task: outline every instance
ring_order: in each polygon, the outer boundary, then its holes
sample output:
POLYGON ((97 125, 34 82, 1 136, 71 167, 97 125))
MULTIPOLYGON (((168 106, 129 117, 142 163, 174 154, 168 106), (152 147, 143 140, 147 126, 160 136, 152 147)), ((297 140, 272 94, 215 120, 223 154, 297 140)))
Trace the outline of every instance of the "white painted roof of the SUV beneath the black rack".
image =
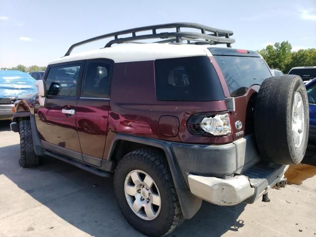
POLYGON ((175 44, 175 43, 127 43, 113 47, 74 53, 56 59, 49 64, 64 63, 77 60, 108 58, 116 63, 148 61, 162 58, 212 56, 208 47, 213 45, 175 44))

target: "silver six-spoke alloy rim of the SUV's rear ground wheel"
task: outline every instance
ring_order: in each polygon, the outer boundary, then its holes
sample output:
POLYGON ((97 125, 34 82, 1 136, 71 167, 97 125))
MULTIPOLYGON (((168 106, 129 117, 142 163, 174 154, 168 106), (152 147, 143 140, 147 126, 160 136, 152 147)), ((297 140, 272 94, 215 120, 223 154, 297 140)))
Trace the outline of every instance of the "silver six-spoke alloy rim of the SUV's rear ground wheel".
POLYGON ((138 217, 153 220, 158 216, 160 194, 149 174, 141 170, 129 172, 124 182, 124 192, 128 205, 138 217))

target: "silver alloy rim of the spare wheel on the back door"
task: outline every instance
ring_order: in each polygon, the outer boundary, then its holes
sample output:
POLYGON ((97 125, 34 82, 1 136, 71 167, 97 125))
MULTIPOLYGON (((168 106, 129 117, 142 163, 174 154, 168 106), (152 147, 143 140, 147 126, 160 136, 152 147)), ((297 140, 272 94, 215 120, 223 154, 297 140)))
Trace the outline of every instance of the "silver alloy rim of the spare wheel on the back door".
POLYGON ((292 108, 292 132, 295 147, 299 147, 304 135, 304 105, 299 92, 295 92, 292 108))

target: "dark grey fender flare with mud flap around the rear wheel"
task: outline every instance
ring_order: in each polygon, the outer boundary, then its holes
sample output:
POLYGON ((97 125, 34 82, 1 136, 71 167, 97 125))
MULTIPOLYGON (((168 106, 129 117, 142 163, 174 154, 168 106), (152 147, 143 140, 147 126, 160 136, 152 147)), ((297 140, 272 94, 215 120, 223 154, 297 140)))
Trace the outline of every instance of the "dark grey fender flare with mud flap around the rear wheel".
POLYGON ((191 219, 201 207, 202 199, 197 198, 191 194, 187 188, 186 182, 180 173, 178 163, 176 161, 174 152, 171 147, 171 142, 161 141, 155 138, 146 138, 128 134, 116 134, 112 140, 110 152, 107 156, 107 160, 110 160, 112 153, 116 148, 118 141, 129 141, 139 144, 144 144, 151 147, 156 147, 164 151, 170 172, 172 175, 173 183, 179 198, 182 214, 185 219, 191 219))

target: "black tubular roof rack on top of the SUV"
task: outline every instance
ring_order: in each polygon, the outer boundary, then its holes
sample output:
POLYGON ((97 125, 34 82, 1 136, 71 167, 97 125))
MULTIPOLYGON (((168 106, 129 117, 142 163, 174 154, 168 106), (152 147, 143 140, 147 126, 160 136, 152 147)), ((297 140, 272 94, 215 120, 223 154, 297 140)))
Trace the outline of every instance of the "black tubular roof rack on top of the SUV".
MULTIPOLYGON (((165 43, 165 42, 183 43, 182 40, 187 40, 187 43, 189 44, 226 43, 227 47, 231 47, 231 43, 235 42, 234 39, 230 38, 230 36, 232 36, 233 34, 234 33, 232 31, 216 29, 216 28, 200 25, 197 23, 188 23, 188 22, 144 26, 144 27, 118 31, 118 32, 110 33, 110 34, 105 34, 105 35, 97 36, 88 40, 80 41, 78 43, 71 45, 67 53, 65 54, 65 56, 70 55, 70 53, 73 51, 74 48, 82 44, 86 44, 89 42, 102 40, 102 39, 110 38, 110 37, 114 37, 114 40, 110 40, 104 47, 111 47, 111 45, 115 43, 125 43, 125 42, 131 42, 134 40, 148 40, 148 39, 165 39, 165 40, 157 41, 159 43, 165 43), (180 30, 181 27, 199 29, 201 33, 182 32, 180 30), (164 32, 164 33, 156 32, 156 30, 159 30, 159 29, 170 29, 170 28, 175 28, 176 31, 164 32), (142 31, 152 31, 152 34, 136 35, 136 33, 142 32, 142 31), (119 35, 125 35, 125 34, 132 34, 132 36, 125 37, 125 38, 118 38, 119 35)), ((137 41, 135 43, 140 43, 140 42, 137 41)))

